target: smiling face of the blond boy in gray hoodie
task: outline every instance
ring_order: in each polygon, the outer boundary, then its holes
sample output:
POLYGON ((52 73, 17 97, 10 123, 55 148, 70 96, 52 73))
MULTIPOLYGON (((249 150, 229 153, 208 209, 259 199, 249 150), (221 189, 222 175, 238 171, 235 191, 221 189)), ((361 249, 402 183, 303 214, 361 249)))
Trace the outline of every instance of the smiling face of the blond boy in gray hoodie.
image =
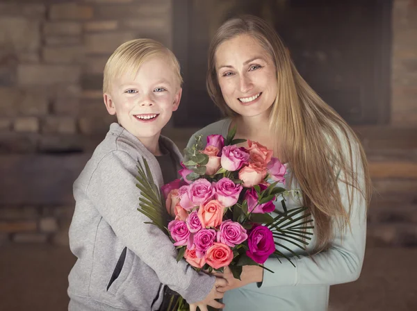
POLYGON ((136 76, 126 72, 115 79, 104 103, 121 126, 147 144, 158 140, 178 109, 181 91, 170 61, 155 56, 140 66, 136 76))

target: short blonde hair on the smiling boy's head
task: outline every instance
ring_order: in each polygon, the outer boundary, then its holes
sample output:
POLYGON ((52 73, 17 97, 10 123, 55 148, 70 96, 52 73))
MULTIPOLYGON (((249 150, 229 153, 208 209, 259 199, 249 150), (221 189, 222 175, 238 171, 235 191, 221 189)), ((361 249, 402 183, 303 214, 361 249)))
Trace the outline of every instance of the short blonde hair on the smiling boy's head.
POLYGON ((123 43, 108 58, 104 67, 103 92, 110 92, 111 84, 126 72, 136 74, 139 67, 149 58, 167 57, 172 62, 172 70, 178 81, 178 88, 183 82, 181 67, 174 53, 158 41, 152 39, 135 39, 123 43))

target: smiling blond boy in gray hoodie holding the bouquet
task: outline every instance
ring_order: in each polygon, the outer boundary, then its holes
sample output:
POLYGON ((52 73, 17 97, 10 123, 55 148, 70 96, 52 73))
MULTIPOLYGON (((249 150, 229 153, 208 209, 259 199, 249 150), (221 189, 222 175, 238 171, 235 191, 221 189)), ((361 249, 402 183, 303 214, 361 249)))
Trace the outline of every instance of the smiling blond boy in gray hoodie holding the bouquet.
POLYGON ((154 40, 126 42, 108 59, 103 91, 118 124, 111 124, 74 183, 70 247, 78 260, 68 277, 69 310, 158 310, 166 308, 167 286, 189 303, 221 308, 216 287, 227 282, 177 262, 170 239, 136 210, 138 160, 147 159, 161 187, 163 174, 172 178, 176 169, 172 161, 162 172, 156 157, 181 158, 160 136, 181 99, 177 58, 154 40))

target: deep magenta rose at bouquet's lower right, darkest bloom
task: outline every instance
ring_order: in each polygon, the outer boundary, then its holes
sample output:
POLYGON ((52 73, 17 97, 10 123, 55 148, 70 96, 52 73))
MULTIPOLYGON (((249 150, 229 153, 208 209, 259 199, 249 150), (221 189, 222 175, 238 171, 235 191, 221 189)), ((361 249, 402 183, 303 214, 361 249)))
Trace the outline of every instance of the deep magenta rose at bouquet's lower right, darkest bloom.
POLYGON ((246 251, 252 260, 263 264, 275 252, 274 237, 272 231, 265 226, 256 226, 247 239, 249 251, 246 251))

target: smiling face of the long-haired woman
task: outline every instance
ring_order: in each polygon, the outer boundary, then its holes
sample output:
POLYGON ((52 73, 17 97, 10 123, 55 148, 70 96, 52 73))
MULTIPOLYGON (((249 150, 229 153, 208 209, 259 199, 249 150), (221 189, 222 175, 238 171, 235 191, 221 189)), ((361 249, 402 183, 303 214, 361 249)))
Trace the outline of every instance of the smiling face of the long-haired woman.
POLYGON ((275 64, 250 35, 238 35, 219 45, 215 69, 227 106, 243 117, 268 117, 277 97, 275 64))

